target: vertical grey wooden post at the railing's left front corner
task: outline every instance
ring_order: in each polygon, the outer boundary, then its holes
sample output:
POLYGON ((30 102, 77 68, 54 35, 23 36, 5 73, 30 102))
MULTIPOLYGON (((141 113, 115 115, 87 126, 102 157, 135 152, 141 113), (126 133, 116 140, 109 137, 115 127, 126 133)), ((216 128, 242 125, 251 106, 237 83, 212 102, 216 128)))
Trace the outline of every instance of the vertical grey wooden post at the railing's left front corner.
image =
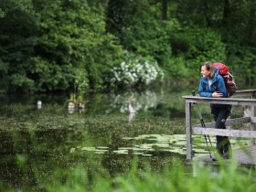
POLYGON ((187 160, 192 159, 191 129, 191 102, 186 101, 187 160))

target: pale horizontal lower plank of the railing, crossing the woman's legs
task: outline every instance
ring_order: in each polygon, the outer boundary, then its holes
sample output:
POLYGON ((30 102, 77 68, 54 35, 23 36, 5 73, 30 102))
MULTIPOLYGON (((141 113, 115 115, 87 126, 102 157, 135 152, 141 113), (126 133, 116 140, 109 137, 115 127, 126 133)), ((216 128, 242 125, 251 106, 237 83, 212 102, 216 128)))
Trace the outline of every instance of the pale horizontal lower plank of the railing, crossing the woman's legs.
POLYGON ((230 137, 256 138, 256 131, 244 131, 244 130, 228 130, 228 129, 212 129, 212 128, 193 127, 192 133, 230 136, 230 137))

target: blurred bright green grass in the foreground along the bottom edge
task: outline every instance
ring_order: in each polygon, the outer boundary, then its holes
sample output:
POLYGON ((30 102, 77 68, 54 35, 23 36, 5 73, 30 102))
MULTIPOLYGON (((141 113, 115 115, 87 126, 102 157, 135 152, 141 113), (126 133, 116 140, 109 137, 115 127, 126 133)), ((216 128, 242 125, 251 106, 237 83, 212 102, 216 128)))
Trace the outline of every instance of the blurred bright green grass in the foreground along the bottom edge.
POLYGON ((255 172, 250 169, 238 168, 234 161, 225 164, 220 161, 219 173, 210 165, 196 162, 197 176, 186 176, 185 167, 177 164, 173 169, 165 168, 164 173, 156 173, 148 166, 140 167, 133 163, 127 176, 111 178, 106 174, 92 175, 82 168, 70 171, 66 176, 55 175, 51 180, 54 185, 46 184, 47 191, 235 191, 253 192, 255 172), (214 176, 216 174, 217 176, 214 176), (91 181, 90 176, 93 177, 91 181), (59 179, 56 179, 59 178, 59 179), (60 181, 59 181, 60 180, 60 181))

